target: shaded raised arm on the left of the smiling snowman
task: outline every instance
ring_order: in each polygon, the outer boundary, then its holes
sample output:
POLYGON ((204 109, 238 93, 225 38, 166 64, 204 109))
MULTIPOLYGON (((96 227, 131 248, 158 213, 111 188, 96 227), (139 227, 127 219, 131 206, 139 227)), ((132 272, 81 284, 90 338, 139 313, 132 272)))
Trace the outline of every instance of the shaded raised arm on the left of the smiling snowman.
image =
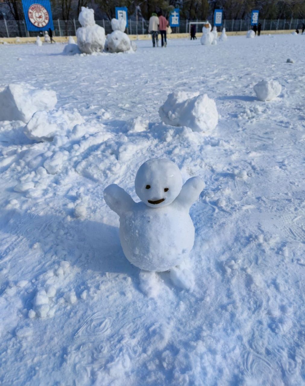
POLYGON ((104 189, 104 200, 113 212, 121 216, 124 212, 132 209, 135 201, 123 188, 116 184, 111 184, 104 189))

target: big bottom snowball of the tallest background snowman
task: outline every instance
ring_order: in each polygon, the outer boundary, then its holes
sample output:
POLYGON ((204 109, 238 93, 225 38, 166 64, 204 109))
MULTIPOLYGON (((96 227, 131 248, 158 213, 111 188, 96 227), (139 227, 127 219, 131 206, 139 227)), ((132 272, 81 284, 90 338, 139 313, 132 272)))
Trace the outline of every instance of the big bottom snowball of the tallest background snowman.
POLYGON ((78 47, 85 54, 101 52, 105 46, 105 30, 97 24, 80 27, 76 31, 78 47))

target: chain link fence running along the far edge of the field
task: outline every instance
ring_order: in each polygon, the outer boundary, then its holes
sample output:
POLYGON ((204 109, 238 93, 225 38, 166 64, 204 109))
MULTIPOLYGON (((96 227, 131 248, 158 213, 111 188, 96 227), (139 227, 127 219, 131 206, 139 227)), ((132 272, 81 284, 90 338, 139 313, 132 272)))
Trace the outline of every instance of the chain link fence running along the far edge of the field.
MULTIPOLYGON (((173 33, 189 32, 189 25, 192 22, 204 22, 205 20, 180 20, 180 27, 172 27, 173 33)), ((261 23, 261 30, 302 30, 304 19, 291 20, 259 20, 261 23)), ((81 27, 77 19, 72 20, 53 20, 54 35, 55 36, 75 36, 76 30, 81 27)), ((110 20, 96 20, 96 24, 104 27, 106 34, 112 32, 110 20)), ((251 28, 250 20, 224 20, 222 27, 227 31, 238 32, 247 31, 251 28)), ((202 25, 196 25, 197 32, 201 32, 202 25)), ((221 28, 217 27, 220 31, 221 28)), ((128 29, 126 31, 130 35, 144 35, 148 34, 148 21, 128 20, 128 29)), ((37 31, 27 31, 24 20, 0 20, 0 37, 27 37, 27 36, 42 36, 42 33, 37 31)))

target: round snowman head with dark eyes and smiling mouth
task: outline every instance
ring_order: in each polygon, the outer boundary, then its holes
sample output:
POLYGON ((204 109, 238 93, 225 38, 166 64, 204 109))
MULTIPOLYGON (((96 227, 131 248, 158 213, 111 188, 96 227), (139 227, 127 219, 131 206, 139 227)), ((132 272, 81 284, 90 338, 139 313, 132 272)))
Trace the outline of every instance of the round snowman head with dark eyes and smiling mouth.
POLYGON ((148 207, 169 205, 179 195, 181 188, 180 170, 168 159, 149 159, 136 173, 136 194, 148 207))

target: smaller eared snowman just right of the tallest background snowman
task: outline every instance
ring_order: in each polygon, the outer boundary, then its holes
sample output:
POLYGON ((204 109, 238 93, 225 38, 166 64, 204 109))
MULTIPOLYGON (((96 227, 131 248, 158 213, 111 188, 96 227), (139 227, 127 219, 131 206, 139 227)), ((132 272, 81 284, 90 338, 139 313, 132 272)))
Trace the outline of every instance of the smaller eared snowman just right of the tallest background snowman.
POLYGON ((108 52, 133 52, 136 51, 136 44, 131 43, 128 35, 125 34, 126 20, 111 20, 113 32, 107 35, 105 50, 108 52))

